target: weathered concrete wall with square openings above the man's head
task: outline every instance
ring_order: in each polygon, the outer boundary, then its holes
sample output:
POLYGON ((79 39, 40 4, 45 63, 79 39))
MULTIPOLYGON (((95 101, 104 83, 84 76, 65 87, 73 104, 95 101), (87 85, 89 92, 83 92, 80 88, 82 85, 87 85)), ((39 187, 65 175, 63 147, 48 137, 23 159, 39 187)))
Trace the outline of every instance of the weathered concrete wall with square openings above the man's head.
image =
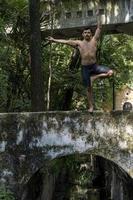
MULTIPOLYGON (((132 0, 60 0, 51 8, 55 13, 54 34, 61 37, 79 36, 80 30, 97 24, 96 10, 106 32, 125 32, 133 34, 133 1, 132 0)), ((49 6, 48 6, 49 8, 49 6)), ((44 16, 47 14, 44 10, 44 16)), ((48 16, 47 16, 48 17, 48 16)), ((42 23, 44 35, 51 29, 51 24, 42 23)), ((80 33, 81 36, 81 33, 80 33)))

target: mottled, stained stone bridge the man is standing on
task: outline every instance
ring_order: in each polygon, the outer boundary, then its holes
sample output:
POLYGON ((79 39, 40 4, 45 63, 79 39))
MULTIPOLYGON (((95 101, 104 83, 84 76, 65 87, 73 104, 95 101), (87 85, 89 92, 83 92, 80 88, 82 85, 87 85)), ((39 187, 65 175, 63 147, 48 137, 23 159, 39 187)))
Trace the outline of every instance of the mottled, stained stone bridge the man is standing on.
POLYGON ((0 183, 21 188, 47 160, 102 156, 133 177, 133 112, 0 114, 0 183))

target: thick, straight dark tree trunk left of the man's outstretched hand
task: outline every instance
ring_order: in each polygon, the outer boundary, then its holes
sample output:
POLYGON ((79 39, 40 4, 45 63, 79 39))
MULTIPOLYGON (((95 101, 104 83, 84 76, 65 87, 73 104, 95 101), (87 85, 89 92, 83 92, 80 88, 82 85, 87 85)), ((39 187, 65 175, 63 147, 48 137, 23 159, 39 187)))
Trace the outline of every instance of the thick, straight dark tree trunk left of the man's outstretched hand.
POLYGON ((44 110, 44 87, 41 69, 40 0, 29 0, 30 57, 31 57, 31 108, 44 110))

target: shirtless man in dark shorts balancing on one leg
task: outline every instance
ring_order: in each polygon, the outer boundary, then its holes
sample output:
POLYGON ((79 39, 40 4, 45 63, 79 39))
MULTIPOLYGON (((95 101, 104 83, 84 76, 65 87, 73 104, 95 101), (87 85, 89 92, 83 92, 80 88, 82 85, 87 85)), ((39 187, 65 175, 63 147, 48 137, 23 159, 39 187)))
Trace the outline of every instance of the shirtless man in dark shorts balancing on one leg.
POLYGON ((48 40, 55 43, 67 44, 78 48, 81 56, 83 84, 87 88, 88 111, 93 111, 92 82, 100 77, 109 77, 113 71, 108 67, 96 63, 97 43, 101 33, 101 25, 98 23, 94 36, 91 29, 83 31, 83 40, 64 40, 48 37, 48 40))

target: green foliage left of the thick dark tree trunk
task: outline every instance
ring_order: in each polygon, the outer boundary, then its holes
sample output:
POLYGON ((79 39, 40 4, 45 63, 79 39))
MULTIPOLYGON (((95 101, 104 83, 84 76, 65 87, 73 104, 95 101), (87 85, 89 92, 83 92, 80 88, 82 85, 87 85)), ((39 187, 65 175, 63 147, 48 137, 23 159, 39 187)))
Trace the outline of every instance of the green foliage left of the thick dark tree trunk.
POLYGON ((2 1, 0 12, 0 112, 29 110, 27 4, 2 1))

